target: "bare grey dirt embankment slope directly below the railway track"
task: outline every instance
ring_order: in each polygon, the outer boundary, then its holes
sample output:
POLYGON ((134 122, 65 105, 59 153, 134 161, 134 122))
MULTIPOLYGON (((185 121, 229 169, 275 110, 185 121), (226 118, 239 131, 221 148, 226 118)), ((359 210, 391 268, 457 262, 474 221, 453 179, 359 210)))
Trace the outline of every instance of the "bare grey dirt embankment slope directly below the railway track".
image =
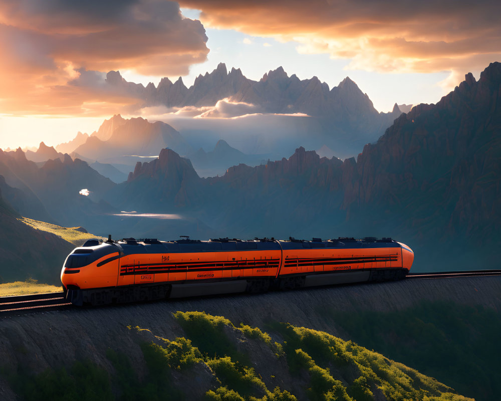
POLYGON ((16 399, 7 377, 20 369, 38 374, 47 368, 69 368, 75 360, 90 360, 111 374, 114 368, 106 357, 109 349, 126 353, 139 377, 144 376, 138 334, 127 326, 150 330, 144 341, 154 340, 153 335, 173 340, 185 335, 173 317, 176 311, 205 311, 224 316, 235 326, 243 322, 265 329, 270 322, 289 322, 348 340, 343 322, 329 318, 333 313, 404 311, 423 301, 482 306, 499 316, 501 277, 413 280, 4 317, 0 320, 0 365, 4 369, 0 398, 16 399))

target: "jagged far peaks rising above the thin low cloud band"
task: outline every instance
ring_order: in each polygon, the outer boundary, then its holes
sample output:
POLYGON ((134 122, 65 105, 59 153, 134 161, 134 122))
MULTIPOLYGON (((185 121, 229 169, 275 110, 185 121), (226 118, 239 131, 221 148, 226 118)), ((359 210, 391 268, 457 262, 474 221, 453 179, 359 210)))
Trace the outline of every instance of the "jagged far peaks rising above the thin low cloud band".
POLYGON ((312 116, 331 116, 335 113, 338 118, 346 111, 350 114, 359 111, 362 117, 379 114, 367 94, 349 77, 329 90, 329 86, 317 77, 305 80, 300 80, 296 74, 289 77, 283 67, 265 73, 259 81, 253 81, 246 78, 240 69, 232 68, 228 73, 226 65, 219 63, 211 73, 199 75, 189 88, 180 77, 174 83, 162 78, 157 87, 152 83, 144 87, 125 81, 118 71, 110 71, 106 82, 134 93, 144 99, 146 105, 213 106, 218 100, 229 98, 235 102, 260 105, 269 113, 307 113, 312 116))

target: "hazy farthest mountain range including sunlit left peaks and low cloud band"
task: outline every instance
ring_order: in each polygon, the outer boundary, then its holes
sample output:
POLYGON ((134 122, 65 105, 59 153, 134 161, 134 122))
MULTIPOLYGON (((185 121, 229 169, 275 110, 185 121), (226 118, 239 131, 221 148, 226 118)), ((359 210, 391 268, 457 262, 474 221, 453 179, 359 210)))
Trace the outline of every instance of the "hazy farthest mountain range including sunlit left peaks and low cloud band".
POLYGON ((152 83, 144 87, 127 82, 118 71, 110 71, 106 85, 137 98, 139 107, 186 107, 181 111, 190 116, 167 113, 163 118, 156 117, 169 122, 166 124, 142 117, 124 119, 117 114, 91 135, 79 133, 72 141, 57 146, 89 163, 112 163, 119 170, 117 164, 134 166, 133 161, 120 157, 157 155, 166 147, 192 158, 201 175, 223 173, 234 163, 261 162, 259 156, 237 158, 234 151, 209 160, 210 149, 221 139, 244 154, 283 157, 299 146, 325 146, 340 157, 349 157, 377 140, 401 114, 398 106, 390 113, 378 113, 367 94, 348 77, 329 89, 317 77, 289 77, 282 67, 253 81, 239 69, 228 72, 220 63, 211 73, 199 75, 189 88, 181 78, 174 83, 163 78, 157 87, 152 83), (191 118, 194 115, 200 118, 191 118), (247 118, 231 120, 236 116, 247 118), (206 155, 196 150, 200 147, 206 155))

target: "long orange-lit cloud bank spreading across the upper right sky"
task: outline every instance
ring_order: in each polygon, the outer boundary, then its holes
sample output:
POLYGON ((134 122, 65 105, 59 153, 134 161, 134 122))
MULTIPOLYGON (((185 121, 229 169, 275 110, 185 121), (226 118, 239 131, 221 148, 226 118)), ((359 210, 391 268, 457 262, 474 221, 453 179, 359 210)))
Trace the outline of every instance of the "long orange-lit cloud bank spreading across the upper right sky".
POLYGON ((301 53, 378 72, 480 71, 501 58, 501 3, 489 0, 181 0, 206 27, 295 41, 301 53))

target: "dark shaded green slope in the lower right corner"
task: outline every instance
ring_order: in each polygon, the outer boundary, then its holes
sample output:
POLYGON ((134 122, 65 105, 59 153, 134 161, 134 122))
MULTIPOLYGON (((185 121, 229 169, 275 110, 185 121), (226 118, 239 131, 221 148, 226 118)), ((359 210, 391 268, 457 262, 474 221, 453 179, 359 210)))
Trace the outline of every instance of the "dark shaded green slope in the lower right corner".
POLYGON ((402 311, 318 311, 358 344, 446 382, 477 400, 501 394, 501 314, 452 302, 422 302, 402 311), (445 368, 447 366, 447 368, 445 368), (474 390, 474 392, 472 391, 474 390))

